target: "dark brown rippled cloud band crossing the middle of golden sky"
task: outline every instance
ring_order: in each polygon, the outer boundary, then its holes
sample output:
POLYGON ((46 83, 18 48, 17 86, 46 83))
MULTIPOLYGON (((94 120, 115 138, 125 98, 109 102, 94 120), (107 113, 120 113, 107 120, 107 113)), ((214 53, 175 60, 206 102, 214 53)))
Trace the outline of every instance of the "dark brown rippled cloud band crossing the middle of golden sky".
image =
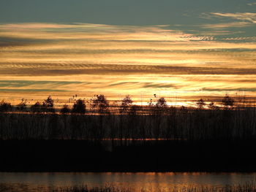
MULTIPOLYGON (((36 65, 35 65, 36 66, 36 65)), ((41 68, 20 68, 12 70, 1 70, 0 74, 12 76, 64 76, 79 74, 256 74, 256 69, 213 67, 213 66, 172 66, 172 65, 122 65, 122 64, 80 64, 80 67, 70 66, 66 69, 41 68)), ((51 82, 51 84, 54 84, 51 82)), ((58 84, 59 85, 59 84, 58 84)))

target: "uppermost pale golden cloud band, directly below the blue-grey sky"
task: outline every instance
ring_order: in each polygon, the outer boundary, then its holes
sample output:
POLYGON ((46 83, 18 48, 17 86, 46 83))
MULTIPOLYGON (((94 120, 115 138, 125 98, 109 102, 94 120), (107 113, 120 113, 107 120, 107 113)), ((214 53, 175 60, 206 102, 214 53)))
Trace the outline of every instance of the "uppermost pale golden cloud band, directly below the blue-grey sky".
POLYGON ((1 39, 40 40, 121 40, 121 41, 200 41, 212 37, 197 37, 169 26, 110 26, 89 23, 70 25, 53 23, 14 23, 0 25, 1 39), (113 34, 115 34, 113 36, 113 34))

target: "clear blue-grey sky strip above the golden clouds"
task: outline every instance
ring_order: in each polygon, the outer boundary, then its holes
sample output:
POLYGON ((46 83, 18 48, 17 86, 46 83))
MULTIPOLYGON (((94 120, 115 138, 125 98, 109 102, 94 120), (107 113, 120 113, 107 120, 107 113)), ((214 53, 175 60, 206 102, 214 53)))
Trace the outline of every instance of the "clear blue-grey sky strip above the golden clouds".
MULTIPOLYGON (((0 23, 207 23, 208 12, 255 12, 252 0, 1 0, 0 23)), ((211 20, 214 23, 214 20, 211 20)))

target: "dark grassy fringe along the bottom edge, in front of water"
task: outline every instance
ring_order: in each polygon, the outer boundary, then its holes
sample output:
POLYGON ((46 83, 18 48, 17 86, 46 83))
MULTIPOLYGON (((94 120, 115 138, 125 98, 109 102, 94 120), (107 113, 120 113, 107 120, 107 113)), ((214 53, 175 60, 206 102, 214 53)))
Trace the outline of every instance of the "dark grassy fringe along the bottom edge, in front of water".
MULTIPOLYGON (((0 191, 42 191, 42 188, 34 186, 32 190, 29 189, 29 185, 21 184, 4 184, 0 183, 0 191)), ((246 183, 246 184, 236 184, 236 185, 170 185, 170 187, 161 189, 146 189, 141 187, 140 189, 129 188, 129 187, 118 187, 116 185, 105 185, 99 187, 88 187, 87 185, 78 186, 59 186, 59 187, 49 187, 48 189, 43 189, 47 192, 255 192, 256 184, 246 183)))

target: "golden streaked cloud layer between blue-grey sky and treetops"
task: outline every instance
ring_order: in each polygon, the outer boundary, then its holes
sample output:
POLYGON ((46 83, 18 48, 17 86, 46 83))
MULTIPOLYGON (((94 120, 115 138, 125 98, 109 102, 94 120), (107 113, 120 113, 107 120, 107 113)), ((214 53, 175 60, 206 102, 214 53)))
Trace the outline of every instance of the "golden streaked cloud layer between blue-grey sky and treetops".
POLYGON ((167 25, 1 24, 0 99, 51 94, 65 102, 75 93, 87 98, 103 93, 112 100, 130 94, 139 101, 143 95, 146 102, 154 93, 184 99, 241 90, 255 95, 256 39, 230 30, 252 21, 236 20, 200 25, 206 31, 167 25))

